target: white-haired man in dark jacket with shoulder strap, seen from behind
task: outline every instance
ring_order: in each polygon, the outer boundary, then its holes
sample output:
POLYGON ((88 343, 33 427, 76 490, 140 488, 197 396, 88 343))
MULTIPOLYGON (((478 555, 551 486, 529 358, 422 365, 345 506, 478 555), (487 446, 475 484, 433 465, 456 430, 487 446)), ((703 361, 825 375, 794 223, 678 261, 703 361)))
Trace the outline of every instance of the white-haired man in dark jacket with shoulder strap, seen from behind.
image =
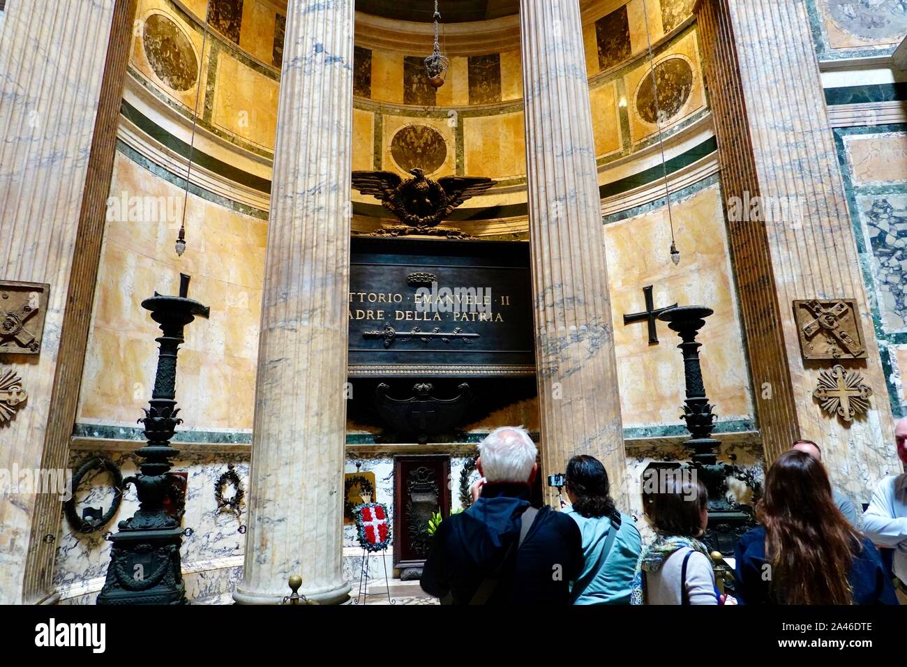
POLYGON ((422 588, 451 604, 569 604, 582 566, 580 528, 549 506, 530 506, 538 449, 522 427, 495 429, 479 447, 480 494, 444 519, 422 588))

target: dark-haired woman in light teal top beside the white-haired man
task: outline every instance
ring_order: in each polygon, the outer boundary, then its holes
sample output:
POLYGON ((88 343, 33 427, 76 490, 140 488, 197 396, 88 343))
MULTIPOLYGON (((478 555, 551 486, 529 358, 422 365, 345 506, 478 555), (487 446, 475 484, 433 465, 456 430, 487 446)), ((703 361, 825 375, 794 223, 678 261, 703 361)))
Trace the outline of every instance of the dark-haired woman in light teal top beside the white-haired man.
POLYGON ((642 538, 633 518, 610 498, 605 466, 594 456, 573 456, 567 464, 564 509, 580 526, 584 564, 571 584, 574 604, 627 604, 642 538))

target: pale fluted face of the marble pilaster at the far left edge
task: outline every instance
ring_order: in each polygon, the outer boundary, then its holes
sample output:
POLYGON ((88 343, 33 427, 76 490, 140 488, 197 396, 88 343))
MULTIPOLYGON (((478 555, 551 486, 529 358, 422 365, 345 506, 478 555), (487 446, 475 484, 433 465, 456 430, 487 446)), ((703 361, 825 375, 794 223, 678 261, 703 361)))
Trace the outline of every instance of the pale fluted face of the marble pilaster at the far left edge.
MULTIPOLYGON (((15 370, 28 392, 24 407, 0 429, 0 469, 6 471, 65 467, 68 438, 53 451, 45 451, 45 438, 60 372, 63 319, 72 307, 73 255, 115 6, 115 0, 29 0, 5 6, 0 280, 50 284, 40 355, 0 358, 0 368, 15 370)), ((77 387, 76 378, 72 388, 77 387)), ((60 521, 58 495, 53 495, 54 520, 38 535, 35 508, 44 495, 8 489, 0 495, 0 603, 51 599, 47 586, 60 521), (39 550, 45 554, 41 567, 26 576, 39 550)))

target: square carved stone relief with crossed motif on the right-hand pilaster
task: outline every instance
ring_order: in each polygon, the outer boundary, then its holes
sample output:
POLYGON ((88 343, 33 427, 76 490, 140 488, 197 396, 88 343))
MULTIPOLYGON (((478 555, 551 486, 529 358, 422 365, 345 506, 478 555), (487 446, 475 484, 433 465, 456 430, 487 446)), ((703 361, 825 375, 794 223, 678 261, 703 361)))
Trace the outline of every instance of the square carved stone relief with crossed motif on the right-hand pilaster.
POLYGON ((863 329, 853 299, 795 300, 794 317, 806 360, 866 358, 863 329))

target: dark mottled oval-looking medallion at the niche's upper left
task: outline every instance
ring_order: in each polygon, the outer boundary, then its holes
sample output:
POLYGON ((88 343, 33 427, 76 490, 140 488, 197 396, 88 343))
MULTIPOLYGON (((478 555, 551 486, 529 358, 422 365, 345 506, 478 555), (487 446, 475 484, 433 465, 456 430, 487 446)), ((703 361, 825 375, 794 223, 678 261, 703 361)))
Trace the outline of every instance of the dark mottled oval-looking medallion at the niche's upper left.
POLYGON ((142 31, 145 56, 154 74, 175 91, 188 91, 199 78, 199 60, 189 37, 170 18, 152 14, 142 31))

